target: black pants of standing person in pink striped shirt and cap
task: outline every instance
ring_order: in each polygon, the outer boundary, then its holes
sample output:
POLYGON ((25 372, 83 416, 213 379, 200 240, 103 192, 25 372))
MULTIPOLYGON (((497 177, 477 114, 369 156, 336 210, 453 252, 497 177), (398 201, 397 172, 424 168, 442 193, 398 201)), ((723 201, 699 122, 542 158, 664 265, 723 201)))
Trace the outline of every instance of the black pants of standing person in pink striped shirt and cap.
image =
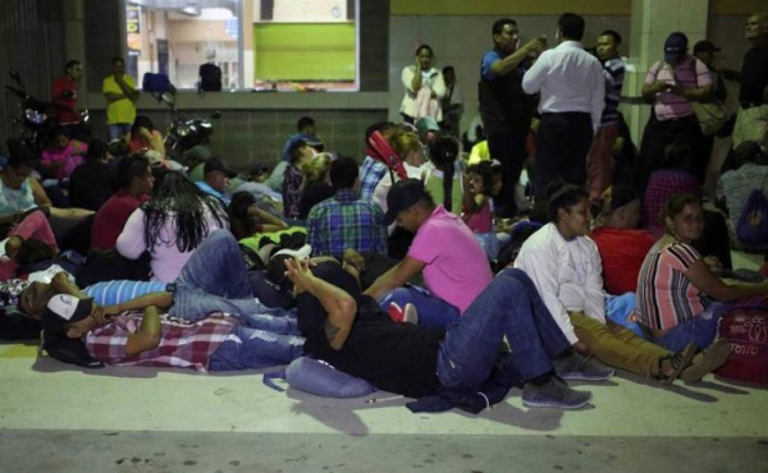
MULTIPOLYGON (((678 118, 677 120, 660 121, 656 114, 651 111, 648 123, 643 132, 643 141, 640 144, 640 153, 637 156, 637 174, 635 184, 637 190, 645 190, 648 183, 648 177, 654 170, 661 167, 661 161, 664 159, 664 148, 668 144, 681 143, 690 147, 691 157, 694 161, 701 160, 703 155, 704 136, 701 133, 699 121, 696 115, 678 118)), ((709 160, 709 157, 706 158, 709 160)), ((707 169, 707 162, 701 167, 707 169)), ((693 167, 689 168, 695 175, 693 167)))

